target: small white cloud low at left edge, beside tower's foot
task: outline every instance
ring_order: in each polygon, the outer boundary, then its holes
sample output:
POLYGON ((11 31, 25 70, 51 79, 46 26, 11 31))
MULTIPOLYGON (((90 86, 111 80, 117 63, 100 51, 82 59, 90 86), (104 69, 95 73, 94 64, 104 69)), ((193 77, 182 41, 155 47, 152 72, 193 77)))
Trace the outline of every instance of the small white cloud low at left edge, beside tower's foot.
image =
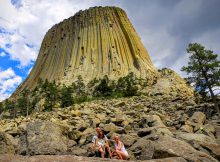
POLYGON ((8 98, 21 82, 22 78, 16 75, 12 68, 0 69, 0 101, 8 98))

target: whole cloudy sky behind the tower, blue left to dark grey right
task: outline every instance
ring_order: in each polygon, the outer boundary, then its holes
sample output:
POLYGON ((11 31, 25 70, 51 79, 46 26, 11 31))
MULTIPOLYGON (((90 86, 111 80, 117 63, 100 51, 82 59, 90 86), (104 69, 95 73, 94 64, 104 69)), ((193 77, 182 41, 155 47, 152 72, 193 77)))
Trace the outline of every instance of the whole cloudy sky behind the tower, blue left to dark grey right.
POLYGON ((0 101, 29 74, 47 30, 93 6, 123 8, 157 68, 185 76, 190 42, 220 54, 220 0, 0 0, 0 101))

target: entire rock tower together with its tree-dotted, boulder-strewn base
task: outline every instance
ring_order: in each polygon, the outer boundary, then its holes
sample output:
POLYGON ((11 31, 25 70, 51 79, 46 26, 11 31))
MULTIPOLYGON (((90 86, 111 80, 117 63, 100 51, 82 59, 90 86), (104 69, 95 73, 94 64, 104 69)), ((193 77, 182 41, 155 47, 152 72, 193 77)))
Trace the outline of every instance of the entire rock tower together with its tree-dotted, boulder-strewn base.
POLYGON ((0 106, 0 161, 103 162, 91 148, 97 127, 120 136, 131 162, 219 161, 213 104, 174 71, 153 66, 117 7, 54 25, 28 78, 0 106))

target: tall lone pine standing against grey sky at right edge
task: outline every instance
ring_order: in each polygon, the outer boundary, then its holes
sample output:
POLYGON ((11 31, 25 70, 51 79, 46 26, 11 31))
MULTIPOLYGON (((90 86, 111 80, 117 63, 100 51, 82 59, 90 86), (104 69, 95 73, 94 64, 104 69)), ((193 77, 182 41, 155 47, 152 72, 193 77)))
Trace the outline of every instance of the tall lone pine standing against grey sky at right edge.
POLYGON ((214 87, 220 86, 220 61, 217 60, 218 55, 198 43, 190 43, 187 52, 190 54, 188 66, 183 66, 181 70, 189 75, 187 78, 189 83, 194 84, 195 90, 199 94, 205 97, 207 91, 210 93, 219 112, 216 95, 213 91, 214 87))

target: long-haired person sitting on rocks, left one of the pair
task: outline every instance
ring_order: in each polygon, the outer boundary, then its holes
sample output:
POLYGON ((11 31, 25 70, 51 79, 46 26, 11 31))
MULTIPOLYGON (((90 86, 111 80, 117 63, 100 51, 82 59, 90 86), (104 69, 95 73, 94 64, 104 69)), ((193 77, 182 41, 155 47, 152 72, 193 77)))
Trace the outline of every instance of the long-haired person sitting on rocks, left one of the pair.
POLYGON ((99 151, 101 153, 102 158, 105 157, 105 149, 107 149, 107 152, 111 157, 112 154, 108 144, 108 138, 104 135, 100 127, 96 128, 96 132, 97 135, 93 136, 92 138, 93 149, 95 149, 95 151, 99 151))

